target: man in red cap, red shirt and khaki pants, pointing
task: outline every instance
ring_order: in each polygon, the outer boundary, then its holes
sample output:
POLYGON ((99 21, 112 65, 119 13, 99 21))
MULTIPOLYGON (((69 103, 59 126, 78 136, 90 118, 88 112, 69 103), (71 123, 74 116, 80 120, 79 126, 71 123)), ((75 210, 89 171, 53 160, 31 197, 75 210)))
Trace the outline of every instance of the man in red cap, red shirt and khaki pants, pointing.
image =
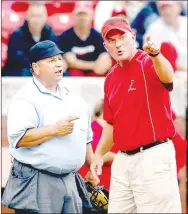
POLYGON ((106 122, 90 170, 98 178, 103 155, 115 143, 108 212, 181 213, 171 141, 173 68, 150 36, 144 51, 135 48, 135 33, 124 18, 107 20, 102 36, 117 64, 105 79, 106 122))

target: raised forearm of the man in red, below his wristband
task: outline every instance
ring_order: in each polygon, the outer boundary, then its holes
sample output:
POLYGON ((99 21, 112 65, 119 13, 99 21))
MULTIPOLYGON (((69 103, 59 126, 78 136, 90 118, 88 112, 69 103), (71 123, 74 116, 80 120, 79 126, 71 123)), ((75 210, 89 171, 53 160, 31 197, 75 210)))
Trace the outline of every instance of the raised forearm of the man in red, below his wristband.
POLYGON ((156 57, 151 57, 157 76, 163 83, 173 82, 174 71, 170 62, 160 53, 156 57))

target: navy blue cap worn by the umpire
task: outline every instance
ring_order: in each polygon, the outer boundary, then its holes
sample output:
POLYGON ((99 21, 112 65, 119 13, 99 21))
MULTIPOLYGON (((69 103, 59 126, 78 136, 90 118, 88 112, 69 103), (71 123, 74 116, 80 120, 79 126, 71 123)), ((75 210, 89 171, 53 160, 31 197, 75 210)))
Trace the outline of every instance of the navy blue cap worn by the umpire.
POLYGON ((38 42, 30 48, 29 61, 30 64, 32 64, 33 62, 37 62, 41 59, 52 57, 58 54, 63 54, 63 51, 59 50, 58 46, 54 42, 45 40, 38 42))

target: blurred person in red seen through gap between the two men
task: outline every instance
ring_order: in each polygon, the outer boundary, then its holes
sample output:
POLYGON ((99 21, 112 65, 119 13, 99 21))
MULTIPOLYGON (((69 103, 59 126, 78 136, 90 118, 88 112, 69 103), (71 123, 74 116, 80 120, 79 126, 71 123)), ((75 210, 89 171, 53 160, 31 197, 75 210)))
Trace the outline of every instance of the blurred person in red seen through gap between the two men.
MULTIPOLYGON (((95 151, 98 142, 102 135, 103 130, 103 99, 101 99, 94 108, 94 120, 91 124, 92 131, 93 131, 93 141, 91 143, 93 151, 95 151)), ((113 147, 110 152, 106 153, 103 157, 104 165, 102 168, 102 175, 100 176, 100 185, 104 186, 105 189, 109 190, 110 187, 110 171, 111 171, 111 164, 115 158, 116 150, 113 147)), ((80 170, 79 173, 82 177, 85 177, 86 173, 88 172, 88 167, 84 165, 80 170)), ((86 180, 87 181, 87 180, 86 180)))

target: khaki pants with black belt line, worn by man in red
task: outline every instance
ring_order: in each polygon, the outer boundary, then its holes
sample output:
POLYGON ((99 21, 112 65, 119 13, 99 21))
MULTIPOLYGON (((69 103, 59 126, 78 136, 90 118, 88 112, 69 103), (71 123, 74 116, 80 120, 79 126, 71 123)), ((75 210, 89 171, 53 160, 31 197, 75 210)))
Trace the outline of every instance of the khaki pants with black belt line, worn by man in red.
POLYGON ((169 140, 112 164, 108 213, 181 213, 175 150, 169 140))

